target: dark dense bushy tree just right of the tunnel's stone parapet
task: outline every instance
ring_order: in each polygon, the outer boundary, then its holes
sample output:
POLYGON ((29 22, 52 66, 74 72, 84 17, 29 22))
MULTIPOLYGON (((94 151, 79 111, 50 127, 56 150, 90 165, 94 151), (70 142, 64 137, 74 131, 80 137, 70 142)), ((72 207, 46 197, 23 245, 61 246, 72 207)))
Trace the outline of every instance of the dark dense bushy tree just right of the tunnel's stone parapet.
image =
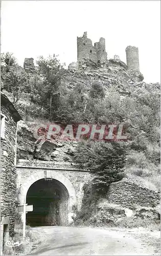
POLYGON ((81 142, 76 148, 75 161, 94 174, 93 186, 104 194, 112 182, 124 177, 126 142, 81 142))

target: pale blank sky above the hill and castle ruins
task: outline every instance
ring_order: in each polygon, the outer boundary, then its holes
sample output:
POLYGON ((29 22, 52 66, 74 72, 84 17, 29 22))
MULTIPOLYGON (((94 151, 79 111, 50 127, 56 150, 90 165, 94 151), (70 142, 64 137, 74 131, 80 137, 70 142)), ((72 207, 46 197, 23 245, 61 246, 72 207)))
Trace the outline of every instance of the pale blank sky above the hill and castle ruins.
POLYGON ((77 61, 77 36, 104 37, 107 58, 126 63, 127 46, 139 48, 145 82, 160 82, 160 1, 2 1, 1 53, 24 59, 59 55, 77 61))

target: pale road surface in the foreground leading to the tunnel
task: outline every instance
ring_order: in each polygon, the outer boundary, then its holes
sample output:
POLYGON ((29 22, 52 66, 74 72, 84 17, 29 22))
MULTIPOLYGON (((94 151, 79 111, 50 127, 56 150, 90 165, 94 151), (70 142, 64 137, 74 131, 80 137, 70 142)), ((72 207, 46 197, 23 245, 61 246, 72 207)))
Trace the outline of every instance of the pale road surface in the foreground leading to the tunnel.
POLYGON ((28 255, 159 255, 127 230, 45 226, 32 231, 42 243, 28 255))

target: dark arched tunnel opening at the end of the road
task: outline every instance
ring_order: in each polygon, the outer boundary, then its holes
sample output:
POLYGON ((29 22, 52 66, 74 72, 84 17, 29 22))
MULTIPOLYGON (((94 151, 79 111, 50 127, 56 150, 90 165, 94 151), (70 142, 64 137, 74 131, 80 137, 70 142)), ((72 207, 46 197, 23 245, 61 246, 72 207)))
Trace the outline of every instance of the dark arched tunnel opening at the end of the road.
POLYGON ((30 226, 66 226, 69 195, 66 187, 55 179, 34 182, 27 193, 26 203, 33 205, 27 213, 30 226))

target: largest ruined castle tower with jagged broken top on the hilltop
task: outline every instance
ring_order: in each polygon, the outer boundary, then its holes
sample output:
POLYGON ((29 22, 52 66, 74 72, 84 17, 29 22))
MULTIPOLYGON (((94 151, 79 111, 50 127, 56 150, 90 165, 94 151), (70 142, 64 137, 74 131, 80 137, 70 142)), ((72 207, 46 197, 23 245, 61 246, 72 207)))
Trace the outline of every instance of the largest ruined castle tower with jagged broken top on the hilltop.
POLYGON ((105 39, 101 37, 93 46, 92 41, 87 38, 87 32, 84 32, 82 37, 77 37, 77 59, 78 62, 82 59, 90 59, 96 63, 105 63, 107 60, 105 39))

